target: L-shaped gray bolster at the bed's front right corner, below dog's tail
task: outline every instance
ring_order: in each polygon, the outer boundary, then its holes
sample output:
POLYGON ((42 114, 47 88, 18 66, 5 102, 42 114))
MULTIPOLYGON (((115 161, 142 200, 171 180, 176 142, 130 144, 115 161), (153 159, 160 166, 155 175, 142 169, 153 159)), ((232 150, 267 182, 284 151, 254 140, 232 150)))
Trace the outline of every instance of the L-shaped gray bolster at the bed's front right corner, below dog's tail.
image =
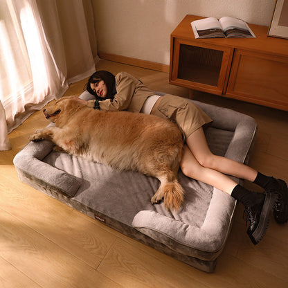
POLYGON ((224 192, 217 189, 213 192, 210 209, 201 227, 184 223, 155 211, 142 210, 137 213, 132 226, 137 231, 159 241, 170 249, 185 255, 195 256, 195 250, 200 250, 197 255, 204 260, 214 260, 221 252, 226 235, 231 224, 235 201, 224 192), (223 207, 227 207, 224 209, 223 207), (213 253, 211 253, 213 252, 213 253), (210 259, 208 259, 210 255, 210 259))

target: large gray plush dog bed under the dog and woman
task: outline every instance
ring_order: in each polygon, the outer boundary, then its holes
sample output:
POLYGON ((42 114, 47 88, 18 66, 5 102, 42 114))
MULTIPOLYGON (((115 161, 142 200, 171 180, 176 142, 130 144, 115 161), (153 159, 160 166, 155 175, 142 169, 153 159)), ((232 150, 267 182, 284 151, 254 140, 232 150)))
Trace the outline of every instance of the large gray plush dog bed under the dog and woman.
MULTIPOLYGON (((84 92, 80 97, 89 100, 91 95, 84 92)), ((255 120, 231 109, 194 102, 213 119, 205 129, 210 150, 248 163, 255 120)), ((197 269, 214 271, 236 204, 226 193, 179 171, 185 201, 177 213, 171 213, 163 204, 150 204, 159 187, 157 179, 55 152, 48 141, 28 143, 14 164, 19 179, 37 190, 197 269)))

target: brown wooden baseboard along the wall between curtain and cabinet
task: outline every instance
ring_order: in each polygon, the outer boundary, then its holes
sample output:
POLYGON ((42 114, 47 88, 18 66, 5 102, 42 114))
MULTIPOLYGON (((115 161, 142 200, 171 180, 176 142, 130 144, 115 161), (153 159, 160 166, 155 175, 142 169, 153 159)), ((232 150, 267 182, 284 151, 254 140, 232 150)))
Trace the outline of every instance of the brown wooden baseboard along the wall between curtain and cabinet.
POLYGON ((98 55, 101 59, 104 60, 169 73, 169 65, 104 52, 98 52, 98 55))

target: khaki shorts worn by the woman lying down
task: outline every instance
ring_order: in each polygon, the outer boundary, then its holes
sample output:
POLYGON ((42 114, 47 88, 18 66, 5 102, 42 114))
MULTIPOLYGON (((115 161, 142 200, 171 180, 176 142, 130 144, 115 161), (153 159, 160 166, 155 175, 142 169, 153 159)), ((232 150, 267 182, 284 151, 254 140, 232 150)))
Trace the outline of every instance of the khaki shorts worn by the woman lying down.
POLYGON ((212 119, 192 101, 169 94, 159 98, 151 114, 169 118, 177 123, 185 139, 203 125, 212 122, 212 119))

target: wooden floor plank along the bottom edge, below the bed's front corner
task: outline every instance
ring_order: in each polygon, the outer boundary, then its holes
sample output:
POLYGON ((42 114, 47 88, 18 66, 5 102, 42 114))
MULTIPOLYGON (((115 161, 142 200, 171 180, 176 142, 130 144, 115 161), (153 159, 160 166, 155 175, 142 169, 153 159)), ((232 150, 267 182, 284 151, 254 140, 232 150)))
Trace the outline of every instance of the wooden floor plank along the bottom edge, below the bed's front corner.
POLYGON ((123 287, 285 287, 285 280, 229 254, 219 262, 215 273, 208 274, 177 260, 155 260, 117 240, 98 270, 123 287))

